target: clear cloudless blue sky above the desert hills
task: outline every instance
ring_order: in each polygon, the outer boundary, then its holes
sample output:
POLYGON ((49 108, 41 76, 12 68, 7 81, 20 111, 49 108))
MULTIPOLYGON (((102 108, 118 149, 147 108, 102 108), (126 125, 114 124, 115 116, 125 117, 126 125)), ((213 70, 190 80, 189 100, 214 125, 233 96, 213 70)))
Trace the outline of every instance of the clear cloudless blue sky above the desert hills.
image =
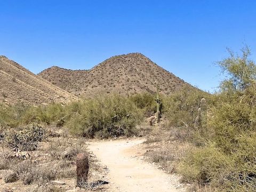
POLYGON ((214 61, 243 42, 256 58, 256 1, 0 0, 0 55, 34 73, 141 52, 213 91, 221 79, 214 61))

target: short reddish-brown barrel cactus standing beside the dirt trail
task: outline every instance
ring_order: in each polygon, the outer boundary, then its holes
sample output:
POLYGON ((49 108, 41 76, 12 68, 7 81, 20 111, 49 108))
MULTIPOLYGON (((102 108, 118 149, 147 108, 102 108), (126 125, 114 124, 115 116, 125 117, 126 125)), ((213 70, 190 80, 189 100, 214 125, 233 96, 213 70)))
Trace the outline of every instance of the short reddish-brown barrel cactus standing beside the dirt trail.
POLYGON ((88 156, 85 153, 79 153, 76 157, 77 187, 85 187, 87 185, 88 171, 88 156))

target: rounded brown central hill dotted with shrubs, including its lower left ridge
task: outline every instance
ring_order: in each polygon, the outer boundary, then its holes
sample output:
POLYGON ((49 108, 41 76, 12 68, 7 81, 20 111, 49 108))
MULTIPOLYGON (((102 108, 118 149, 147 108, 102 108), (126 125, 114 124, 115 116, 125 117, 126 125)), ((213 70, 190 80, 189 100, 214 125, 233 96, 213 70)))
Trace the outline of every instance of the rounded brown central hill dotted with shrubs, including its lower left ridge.
POLYGON ((70 93, 85 96, 113 92, 154 93, 156 83, 162 94, 170 94, 182 86, 191 87, 141 53, 111 57, 91 70, 51 67, 38 75, 70 93))

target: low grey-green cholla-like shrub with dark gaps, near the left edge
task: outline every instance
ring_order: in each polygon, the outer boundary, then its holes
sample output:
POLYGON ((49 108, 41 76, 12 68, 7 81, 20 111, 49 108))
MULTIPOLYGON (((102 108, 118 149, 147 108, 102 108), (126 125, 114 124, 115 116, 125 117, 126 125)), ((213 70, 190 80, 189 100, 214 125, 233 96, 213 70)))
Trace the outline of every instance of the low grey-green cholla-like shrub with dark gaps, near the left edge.
POLYGON ((36 150, 38 142, 45 138, 45 130, 38 125, 31 125, 27 128, 17 131, 7 129, 3 133, 3 142, 14 150, 36 150))

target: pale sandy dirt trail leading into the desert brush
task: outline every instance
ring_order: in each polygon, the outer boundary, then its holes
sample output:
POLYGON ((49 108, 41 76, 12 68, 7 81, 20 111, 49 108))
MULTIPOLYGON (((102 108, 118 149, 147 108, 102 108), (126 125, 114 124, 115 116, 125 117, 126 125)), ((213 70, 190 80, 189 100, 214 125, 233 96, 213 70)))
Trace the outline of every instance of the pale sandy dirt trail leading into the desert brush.
POLYGON ((143 161, 143 139, 90 142, 89 149, 109 169, 109 191, 185 191, 175 175, 168 175, 143 161))

